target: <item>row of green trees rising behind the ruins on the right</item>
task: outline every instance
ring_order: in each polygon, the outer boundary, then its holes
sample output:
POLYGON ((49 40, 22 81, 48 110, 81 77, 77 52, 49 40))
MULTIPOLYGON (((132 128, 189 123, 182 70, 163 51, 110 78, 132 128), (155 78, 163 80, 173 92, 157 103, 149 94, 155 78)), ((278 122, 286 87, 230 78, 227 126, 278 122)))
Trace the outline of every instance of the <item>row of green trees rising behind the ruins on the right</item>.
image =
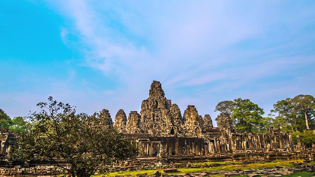
POLYGON ((293 143, 299 135, 306 147, 315 147, 315 98, 312 95, 297 95, 277 101, 269 117, 263 117, 263 109, 249 99, 237 98, 221 101, 215 111, 218 126, 222 117, 231 118, 232 127, 241 133, 268 133, 269 127, 280 127, 284 133, 291 132, 293 143))

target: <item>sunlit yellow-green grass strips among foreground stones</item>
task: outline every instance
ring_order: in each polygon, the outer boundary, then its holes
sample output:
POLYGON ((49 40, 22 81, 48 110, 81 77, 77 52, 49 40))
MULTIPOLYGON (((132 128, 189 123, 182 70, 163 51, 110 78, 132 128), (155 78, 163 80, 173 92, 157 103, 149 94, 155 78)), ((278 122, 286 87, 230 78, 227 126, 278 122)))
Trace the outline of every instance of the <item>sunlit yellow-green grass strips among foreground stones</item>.
MULTIPOLYGON (((301 162, 300 160, 299 162, 301 162)), ((226 161, 226 162, 205 162, 207 164, 209 163, 221 163, 225 164, 227 162, 231 161, 226 161)), ((236 165, 224 165, 220 167, 210 167, 210 168, 179 168, 178 173, 170 173, 170 175, 175 175, 175 174, 183 174, 183 173, 198 173, 202 171, 234 171, 236 169, 240 170, 245 170, 245 169, 262 169, 266 167, 274 167, 275 165, 281 165, 284 167, 293 167, 292 162, 295 161, 279 161, 279 162, 266 162, 266 163, 253 163, 253 164, 236 164, 236 165)), ((193 165, 202 165, 205 163, 191 163, 193 165)), ((235 163, 235 162, 234 162, 235 163)), ((155 171, 159 171, 161 174, 164 174, 163 169, 157 169, 157 170, 140 170, 140 171, 123 171, 123 172, 114 172, 114 173, 109 173, 108 177, 115 177, 116 175, 131 175, 132 177, 135 177, 138 174, 144 174, 147 173, 148 176, 152 176, 155 171)), ((290 176, 283 176, 283 177, 313 177, 314 173, 309 173, 309 172, 303 172, 303 173, 296 173, 296 174, 291 174, 290 176), (296 175, 297 174, 297 175, 296 175), (301 174, 301 175, 298 175, 301 174), (293 175, 293 176, 292 176, 293 175), (311 176, 308 176, 311 175, 311 176)), ((95 177, 101 177, 104 175, 96 175, 95 177)), ((211 177, 223 177, 222 175, 212 175, 211 177)))

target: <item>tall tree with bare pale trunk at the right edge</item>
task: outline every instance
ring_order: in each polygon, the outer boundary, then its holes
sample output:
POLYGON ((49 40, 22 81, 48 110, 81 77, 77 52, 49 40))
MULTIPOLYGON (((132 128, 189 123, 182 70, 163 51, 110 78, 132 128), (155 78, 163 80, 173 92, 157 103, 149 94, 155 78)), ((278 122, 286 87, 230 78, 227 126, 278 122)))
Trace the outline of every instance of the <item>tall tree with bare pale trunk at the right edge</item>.
POLYGON ((305 117, 306 129, 310 129, 310 119, 315 115, 315 98, 312 95, 297 95, 292 100, 295 110, 305 117))

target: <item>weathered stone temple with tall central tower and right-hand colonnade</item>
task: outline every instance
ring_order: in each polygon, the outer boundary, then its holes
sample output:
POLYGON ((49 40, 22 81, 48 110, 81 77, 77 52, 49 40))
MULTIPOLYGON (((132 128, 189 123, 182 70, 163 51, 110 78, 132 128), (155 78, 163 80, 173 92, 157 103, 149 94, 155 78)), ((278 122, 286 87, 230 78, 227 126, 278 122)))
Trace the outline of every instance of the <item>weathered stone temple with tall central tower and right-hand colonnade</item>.
POLYGON ((209 114, 204 118, 189 105, 182 117, 177 104, 165 97, 160 82, 153 81, 149 98, 141 111, 131 111, 126 120, 118 111, 114 126, 137 141, 139 156, 207 156, 219 153, 286 151, 293 147, 291 134, 270 129, 269 134, 238 133, 231 118, 220 115, 220 126, 213 127, 209 114), (285 146, 286 145, 286 146, 285 146))

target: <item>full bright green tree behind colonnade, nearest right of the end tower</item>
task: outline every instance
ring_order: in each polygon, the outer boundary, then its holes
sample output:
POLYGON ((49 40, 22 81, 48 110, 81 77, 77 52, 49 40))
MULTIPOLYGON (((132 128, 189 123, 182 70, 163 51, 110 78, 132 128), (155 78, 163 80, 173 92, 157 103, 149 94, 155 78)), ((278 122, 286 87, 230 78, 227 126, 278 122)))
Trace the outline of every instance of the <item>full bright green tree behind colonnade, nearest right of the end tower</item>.
POLYGON ((232 119, 236 121, 235 128, 243 132, 258 133, 266 130, 266 118, 264 111, 250 99, 234 99, 235 108, 232 109, 232 119))

